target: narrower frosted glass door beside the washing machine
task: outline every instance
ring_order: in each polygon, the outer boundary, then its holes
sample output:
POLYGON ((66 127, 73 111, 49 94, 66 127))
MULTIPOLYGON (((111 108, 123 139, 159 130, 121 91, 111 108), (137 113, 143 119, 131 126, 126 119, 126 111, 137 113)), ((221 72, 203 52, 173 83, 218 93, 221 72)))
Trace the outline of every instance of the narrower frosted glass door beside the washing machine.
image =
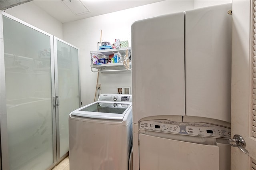
POLYGON ((69 150, 68 115, 80 107, 78 53, 78 48, 54 37, 57 161, 69 150))

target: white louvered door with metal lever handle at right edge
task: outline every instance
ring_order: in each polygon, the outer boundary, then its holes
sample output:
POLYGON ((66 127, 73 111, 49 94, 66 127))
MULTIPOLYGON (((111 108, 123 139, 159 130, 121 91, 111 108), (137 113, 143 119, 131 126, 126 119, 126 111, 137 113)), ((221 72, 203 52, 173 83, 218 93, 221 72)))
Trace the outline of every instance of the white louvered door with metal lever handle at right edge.
POLYGON ((232 147, 231 170, 256 170, 256 129, 252 126, 252 123, 256 123, 252 116, 256 99, 253 99, 253 89, 256 89, 256 79, 253 77, 255 68, 252 69, 256 61, 256 42, 253 42, 256 38, 256 20, 253 20, 256 17, 253 14, 255 6, 254 0, 232 1, 231 136, 241 135, 249 154, 244 154, 238 147, 232 147))

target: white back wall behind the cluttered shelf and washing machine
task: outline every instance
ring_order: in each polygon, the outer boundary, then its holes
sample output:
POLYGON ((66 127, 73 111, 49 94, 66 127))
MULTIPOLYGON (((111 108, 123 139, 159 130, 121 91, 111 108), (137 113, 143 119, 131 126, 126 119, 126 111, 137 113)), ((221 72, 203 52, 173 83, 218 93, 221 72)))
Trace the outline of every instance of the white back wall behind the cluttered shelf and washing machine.
MULTIPOLYGON (((94 101, 97 73, 92 73, 90 70, 90 51, 97 50, 100 30, 102 30, 103 41, 113 43, 115 39, 128 40, 130 46, 131 25, 136 20, 193 8, 194 1, 192 0, 168 0, 64 23, 63 39, 80 48, 81 101, 83 105, 94 101)), ((116 93, 118 86, 131 87, 131 73, 111 75, 100 73, 99 82, 102 86, 102 90, 99 90, 100 93, 116 93)))

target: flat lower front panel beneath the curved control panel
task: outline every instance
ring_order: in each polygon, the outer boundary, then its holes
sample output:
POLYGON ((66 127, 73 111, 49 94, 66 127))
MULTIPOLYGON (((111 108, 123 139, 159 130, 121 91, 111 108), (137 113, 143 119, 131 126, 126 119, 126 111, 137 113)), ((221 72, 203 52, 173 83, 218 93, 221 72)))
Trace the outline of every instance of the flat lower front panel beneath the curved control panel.
POLYGON ((219 160, 215 145, 140 134, 140 170, 218 170, 219 160))

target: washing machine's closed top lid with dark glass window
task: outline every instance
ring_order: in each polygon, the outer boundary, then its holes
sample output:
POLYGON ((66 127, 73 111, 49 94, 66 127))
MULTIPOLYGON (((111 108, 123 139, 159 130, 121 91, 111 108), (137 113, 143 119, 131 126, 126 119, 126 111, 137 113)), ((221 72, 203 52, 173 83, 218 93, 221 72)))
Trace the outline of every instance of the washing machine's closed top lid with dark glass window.
POLYGON ((94 119, 123 120, 129 107, 131 107, 131 103, 94 102, 75 110, 71 115, 94 119))

